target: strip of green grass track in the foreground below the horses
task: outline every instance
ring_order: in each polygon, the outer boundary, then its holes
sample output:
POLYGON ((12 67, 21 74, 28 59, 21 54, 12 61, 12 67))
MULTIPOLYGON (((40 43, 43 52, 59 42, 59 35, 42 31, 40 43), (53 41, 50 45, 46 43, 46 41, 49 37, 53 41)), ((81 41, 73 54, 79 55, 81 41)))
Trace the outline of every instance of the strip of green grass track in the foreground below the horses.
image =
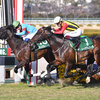
POLYGON ((28 86, 27 84, 0 85, 0 100, 100 100, 98 85, 28 86))

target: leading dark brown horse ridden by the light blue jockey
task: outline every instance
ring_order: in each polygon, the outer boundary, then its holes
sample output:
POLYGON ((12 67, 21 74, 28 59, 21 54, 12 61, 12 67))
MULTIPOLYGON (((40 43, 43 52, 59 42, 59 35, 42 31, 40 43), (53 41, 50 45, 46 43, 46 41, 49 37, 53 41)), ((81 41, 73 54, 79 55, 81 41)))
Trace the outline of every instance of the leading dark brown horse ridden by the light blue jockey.
MULTIPOLYGON (((7 40, 10 48, 16 56, 16 59, 19 62, 19 64, 14 68, 14 72, 17 73, 19 68, 25 66, 28 73, 30 70, 29 63, 36 60, 34 58, 34 52, 31 51, 31 42, 27 43, 23 41, 20 36, 15 35, 15 29, 12 25, 0 28, 0 39, 7 40)), ((32 39, 32 41, 34 41, 34 39, 32 39)), ((37 59, 40 59, 41 57, 44 57, 48 63, 55 59, 51 48, 38 50, 37 59)))

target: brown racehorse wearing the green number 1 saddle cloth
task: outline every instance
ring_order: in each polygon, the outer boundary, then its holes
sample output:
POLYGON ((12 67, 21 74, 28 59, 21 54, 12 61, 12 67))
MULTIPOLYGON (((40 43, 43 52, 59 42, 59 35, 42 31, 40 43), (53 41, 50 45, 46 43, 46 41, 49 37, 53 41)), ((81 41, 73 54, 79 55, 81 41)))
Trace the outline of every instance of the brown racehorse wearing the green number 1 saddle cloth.
MULTIPOLYGON (((98 64, 98 70, 95 73, 100 71, 100 37, 92 38, 94 48, 77 52, 77 62, 76 62, 76 52, 70 46, 69 40, 63 38, 60 35, 55 35, 51 32, 51 27, 42 27, 38 30, 37 34, 33 37, 34 44, 38 41, 43 41, 46 39, 52 48, 53 54, 55 56, 55 60, 50 63, 48 66, 50 67, 57 67, 58 65, 65 64, 65 77, 68 77, 68 72, 70 69, 81 61, 87 60, 87 66, 93 64, 94 60, 98 64), (91 60, 92 59, 92 60, 91 60)), ((91 77, 91 72, 88 71, 86 73, 87 76, 91 77)), ((89 80, 87 80, 89 81, 89 80)))

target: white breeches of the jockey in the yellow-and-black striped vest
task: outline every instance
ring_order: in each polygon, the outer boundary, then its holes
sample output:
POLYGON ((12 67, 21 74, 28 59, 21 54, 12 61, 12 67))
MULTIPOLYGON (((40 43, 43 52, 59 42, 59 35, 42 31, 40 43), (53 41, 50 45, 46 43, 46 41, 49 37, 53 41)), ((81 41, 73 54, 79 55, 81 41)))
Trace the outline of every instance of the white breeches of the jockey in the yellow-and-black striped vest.
POLYGON ((78 37, 82 34, 82 30, 80 28, 78 28, 75 31, 71 31, 71 32, 64 32, 64 37, 66 36, 71 36, 71 37, 78 37))

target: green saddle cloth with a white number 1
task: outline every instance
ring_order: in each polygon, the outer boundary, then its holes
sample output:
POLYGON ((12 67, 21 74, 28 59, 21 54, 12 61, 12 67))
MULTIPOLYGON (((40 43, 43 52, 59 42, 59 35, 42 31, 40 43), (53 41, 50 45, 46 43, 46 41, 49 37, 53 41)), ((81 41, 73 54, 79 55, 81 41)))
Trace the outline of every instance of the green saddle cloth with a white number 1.
MULTIPOLYGON (((77 51, 77 49, 75 48, 75 45, 72 41, 70 41, 70 45, 72 46, 72 48, 77 51)), ((89 50, 89 49, 93 49, 93 42, 90 40, 90 38, 88 38, 87 36, 80 36, 80 44, 78 47, 78 51, 84 51, 84 50, 89 50)))

